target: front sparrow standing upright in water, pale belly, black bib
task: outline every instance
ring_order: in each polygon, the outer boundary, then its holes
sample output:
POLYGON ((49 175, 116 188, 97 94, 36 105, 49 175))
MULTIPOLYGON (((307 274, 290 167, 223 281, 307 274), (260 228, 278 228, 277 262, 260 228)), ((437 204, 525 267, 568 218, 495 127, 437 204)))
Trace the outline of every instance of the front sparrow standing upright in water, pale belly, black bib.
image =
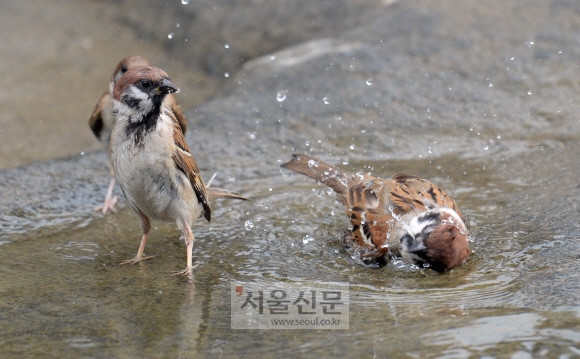
POLYGON ((211 219, 210 200, 246 198, 205 185, 179 122, 165 97, 177 88, 156 67, 128 70, 115 84, 113 102, 115 127, 110 157, 117 181, 127 202, 141 217, 143 238, 135 264, 143 257, 150 218, 176 221, 187 245, 187 267, 175 274, 191 274, 193 233, 191 223, 202 215, 211 219))

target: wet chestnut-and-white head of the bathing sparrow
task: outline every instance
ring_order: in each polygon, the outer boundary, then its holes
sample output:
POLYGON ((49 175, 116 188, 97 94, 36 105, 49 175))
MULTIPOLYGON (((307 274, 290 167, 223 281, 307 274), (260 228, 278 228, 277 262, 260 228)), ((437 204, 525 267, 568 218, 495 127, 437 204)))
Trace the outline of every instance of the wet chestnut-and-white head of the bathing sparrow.
POLYGON ((401 238, 401 255, 418 266, 443 272, 469 257, 468 232, 450 208, 433 208, 411 220, 401 238))

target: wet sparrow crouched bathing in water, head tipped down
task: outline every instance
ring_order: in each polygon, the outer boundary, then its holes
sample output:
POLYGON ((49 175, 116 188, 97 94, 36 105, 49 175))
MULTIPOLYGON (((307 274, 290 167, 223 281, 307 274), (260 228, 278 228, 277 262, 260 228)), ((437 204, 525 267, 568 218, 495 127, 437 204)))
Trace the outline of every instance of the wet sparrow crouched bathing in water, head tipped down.
POLYGON ((293 155, 282 167, 338 194, 352 225, 343 242, 362 259, 391 253, 443 272, 469 257, 467 218, 447 193, 427 180, 404 174, 391 180, 354 175, 308 155, 293 155))

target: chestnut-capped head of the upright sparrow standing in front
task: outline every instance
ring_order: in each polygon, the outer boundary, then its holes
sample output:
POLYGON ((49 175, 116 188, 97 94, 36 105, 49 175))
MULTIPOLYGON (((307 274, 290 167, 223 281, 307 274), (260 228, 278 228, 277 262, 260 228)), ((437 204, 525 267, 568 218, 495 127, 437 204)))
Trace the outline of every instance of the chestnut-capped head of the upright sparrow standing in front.
POLYGON ((117 110, 130 115, 146 116, 159 113, 165 96, 177 92, 165 71, 153 66, 128 70, 113 89, 113 99, 121 105, 117 110))

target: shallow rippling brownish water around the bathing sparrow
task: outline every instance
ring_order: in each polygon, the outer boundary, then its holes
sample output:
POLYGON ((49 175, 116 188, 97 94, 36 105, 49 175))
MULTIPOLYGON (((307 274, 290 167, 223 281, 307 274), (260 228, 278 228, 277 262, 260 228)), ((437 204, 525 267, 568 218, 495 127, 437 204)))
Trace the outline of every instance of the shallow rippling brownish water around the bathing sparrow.
POLYGON ((55 224, 0 246, 0 350, 26 357, 576 356, 579 236, 563 223, 577 209, 542 211, 561 205, 553 203, 560 191, 579 190, 573 173, 550 180, 522 171, 541 161, 555 173, 566 164, 554 165, 564 151, 580 152, 566 146, 503 161, 446 156, 343 166, 371 166, 383 177, 417 173, 449 189, 471 217, 474 254, 444 274, 400 261, 357 264, 340 245, 346 218, 334 195, 275 166, 259 166, 258 178, 216 183, 253 202, 216 203, 212 223, 196 223, 189 281, 169 275, 185 262, 173 224, 154 222, 146 254, 156 258, 118 266, 137 250, 137 216, 126 207, 104 218, 87 212, 92 220, 80 225, 55 224), (304 244, 306 235, 314 240, 304 244), (349 282, 350 328, 231 330, 230 284, 271 280, 349 282))

